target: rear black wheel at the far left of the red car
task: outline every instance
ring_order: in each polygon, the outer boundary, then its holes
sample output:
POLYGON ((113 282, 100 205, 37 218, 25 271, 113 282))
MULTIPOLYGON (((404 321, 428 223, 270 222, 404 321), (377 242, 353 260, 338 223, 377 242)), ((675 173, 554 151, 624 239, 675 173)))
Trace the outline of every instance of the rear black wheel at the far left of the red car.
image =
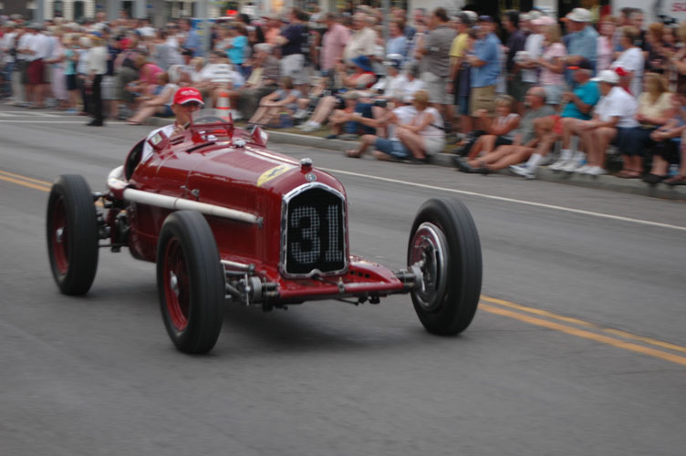
POLYGON ((59 176, 47 199, 47 254, 59 290, 85 295, 98 270, 98 214, 88 182, 59 176))

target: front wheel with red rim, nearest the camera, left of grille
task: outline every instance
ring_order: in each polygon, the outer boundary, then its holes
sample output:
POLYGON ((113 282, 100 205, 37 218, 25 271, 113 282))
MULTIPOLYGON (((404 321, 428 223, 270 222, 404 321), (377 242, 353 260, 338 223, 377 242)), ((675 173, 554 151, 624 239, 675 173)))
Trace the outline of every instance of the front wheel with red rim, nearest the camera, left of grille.
POLYGON ((217 243, 200 212, 172 212, 157 244, 164 326, 183 353, 210 351, 222 330, 225 278, 217 243))

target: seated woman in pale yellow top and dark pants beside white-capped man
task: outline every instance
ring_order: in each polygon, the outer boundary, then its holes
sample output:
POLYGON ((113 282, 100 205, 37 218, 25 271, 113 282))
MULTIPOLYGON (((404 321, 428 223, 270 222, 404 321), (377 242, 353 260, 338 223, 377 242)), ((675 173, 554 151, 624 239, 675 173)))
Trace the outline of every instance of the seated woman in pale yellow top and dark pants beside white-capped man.
POLYGON ((667 81, 657 73, 648 73, 643 84, 645 90, 639 96, 636 120, 639 126, 627 130, 623 140, 624 148, 619 150, 624 168, 617 177, 638 179, 643 174, 643 157, 654 144, 651 133, 665 125, 675 114, 672 94, 667 90, 667 81))

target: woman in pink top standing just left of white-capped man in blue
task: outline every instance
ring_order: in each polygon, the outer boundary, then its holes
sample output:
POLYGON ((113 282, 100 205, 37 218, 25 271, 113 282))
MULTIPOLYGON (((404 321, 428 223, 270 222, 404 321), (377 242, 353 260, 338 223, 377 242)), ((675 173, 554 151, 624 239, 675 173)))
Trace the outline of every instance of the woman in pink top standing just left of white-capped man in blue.
POLYGON ((561 43, 560 26, 546 26, 544 31, 544 51, 538 59, 541 75, 538 82, 546 89, 546 104, 559 105, 562 92, 565 91, 565 62, 566 47, 561 43))

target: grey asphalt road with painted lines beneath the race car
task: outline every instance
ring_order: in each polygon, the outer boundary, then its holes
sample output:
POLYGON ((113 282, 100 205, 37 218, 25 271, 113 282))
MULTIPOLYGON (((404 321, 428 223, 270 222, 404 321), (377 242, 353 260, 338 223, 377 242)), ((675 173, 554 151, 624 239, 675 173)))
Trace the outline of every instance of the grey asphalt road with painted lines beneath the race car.
POLYGON ((348 189, 350 243, 403 265, 412 218, 461 198, 480 309, 432 337, 407 296, 263 314, 228 306, 178 353, 153 264, 100 253, 83 298, 47 263, 47 186, 93 190, 148 130, 0 107, 0 454, 683 455, 686 206, 273 144, 348 189), (53 116, 53 117, 51 117, 53 116))

